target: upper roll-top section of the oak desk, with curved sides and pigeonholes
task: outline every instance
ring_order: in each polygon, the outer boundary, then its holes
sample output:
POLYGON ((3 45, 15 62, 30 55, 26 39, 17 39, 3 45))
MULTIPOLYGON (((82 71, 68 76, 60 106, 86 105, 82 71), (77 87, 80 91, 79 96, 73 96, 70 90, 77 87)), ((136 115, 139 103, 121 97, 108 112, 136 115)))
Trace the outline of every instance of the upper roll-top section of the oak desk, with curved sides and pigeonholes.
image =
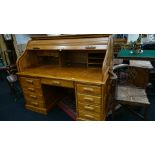
POLYGON ((112 40, 108 36, 94 34, 34 37, 17 61, 18 71, 23 72, 45 64, 65 66, 75 62, 87 68, 102 68, 103 79, 112 64, 112 40))

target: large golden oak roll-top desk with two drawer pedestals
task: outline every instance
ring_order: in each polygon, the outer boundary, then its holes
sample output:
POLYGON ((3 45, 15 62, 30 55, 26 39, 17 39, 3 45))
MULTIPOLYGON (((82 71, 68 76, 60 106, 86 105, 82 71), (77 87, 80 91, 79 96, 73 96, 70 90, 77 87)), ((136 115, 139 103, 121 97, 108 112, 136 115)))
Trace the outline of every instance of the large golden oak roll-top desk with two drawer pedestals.
POLYGON ((105 120, 111 65, 112 39, 107 35, 34 37, 17 60, 25 106, 47 114, 71 89, 77 120, 105 120))

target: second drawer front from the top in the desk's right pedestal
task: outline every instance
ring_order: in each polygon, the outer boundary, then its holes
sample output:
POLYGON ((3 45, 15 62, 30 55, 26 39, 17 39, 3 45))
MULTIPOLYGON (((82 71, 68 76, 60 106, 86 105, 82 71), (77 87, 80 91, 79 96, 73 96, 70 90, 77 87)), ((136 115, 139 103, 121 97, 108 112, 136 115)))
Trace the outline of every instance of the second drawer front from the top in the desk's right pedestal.
POLYGON ((77 94, 77 100, 78 100, 78 103, 80 102, 82 104, 89 103, 89 105, 97 105, 97 106, 101 105, 101 97, 77 94))

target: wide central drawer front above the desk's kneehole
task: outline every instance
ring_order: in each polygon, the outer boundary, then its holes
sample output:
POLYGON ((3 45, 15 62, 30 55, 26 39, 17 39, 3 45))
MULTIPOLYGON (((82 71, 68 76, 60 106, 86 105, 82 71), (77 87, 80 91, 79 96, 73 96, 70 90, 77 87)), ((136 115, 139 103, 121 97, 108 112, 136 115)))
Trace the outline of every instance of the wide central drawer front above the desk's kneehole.
POLYGON ((58 79, 42 79, 41 83, 53 85, 53 86, 74 88, 74 84, 72 81, 65 81, 65 80, 58 80, 58 79))

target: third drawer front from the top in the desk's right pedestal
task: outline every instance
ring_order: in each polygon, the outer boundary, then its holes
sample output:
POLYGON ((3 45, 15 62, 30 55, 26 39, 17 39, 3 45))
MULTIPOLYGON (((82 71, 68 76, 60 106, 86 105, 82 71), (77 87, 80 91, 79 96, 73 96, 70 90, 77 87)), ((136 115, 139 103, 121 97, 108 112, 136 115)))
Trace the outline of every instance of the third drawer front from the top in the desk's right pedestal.
POLYGON ((78 102, 78 109, 82 111, 84 110, 88 112, 101 113, 101 106, 94 106, 90 105, 89 103, 78 102))

